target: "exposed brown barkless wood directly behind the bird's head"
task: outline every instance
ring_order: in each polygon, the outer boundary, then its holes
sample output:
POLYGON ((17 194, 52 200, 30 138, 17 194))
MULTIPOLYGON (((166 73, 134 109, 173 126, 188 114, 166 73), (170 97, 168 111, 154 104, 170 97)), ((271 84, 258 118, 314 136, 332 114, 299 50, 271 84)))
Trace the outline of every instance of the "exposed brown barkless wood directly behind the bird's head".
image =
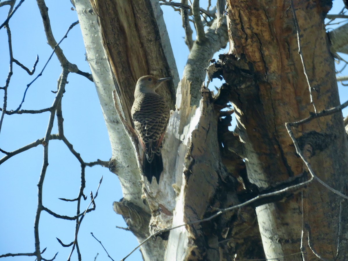
POLYGON ((176 68, 169 68, 151 1, 92 0, 92 6, 99 15, 104 48, 128 123, 132 124, 135 84, 144 75, 173 77, 174 82, 165 82, 158 93, 174 109, 179 77, 176 68))

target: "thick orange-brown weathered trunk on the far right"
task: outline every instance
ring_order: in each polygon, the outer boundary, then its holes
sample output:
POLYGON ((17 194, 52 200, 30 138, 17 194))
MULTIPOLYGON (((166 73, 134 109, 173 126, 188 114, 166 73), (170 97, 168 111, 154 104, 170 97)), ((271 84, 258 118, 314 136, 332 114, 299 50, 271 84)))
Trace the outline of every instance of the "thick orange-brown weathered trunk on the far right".
MULTIPOLYGON (((234 91, 237 132, 250 181, 258 187, 307 174, 284 126, 313 112, 298 54, 290 1, 227 1, 230 55, 223 77, 234 91), (233 54, 233 55, 232 55, 233 54), (234 56, 236 55, 239 60, 234 56)), ((324 17, 330 1, 294 1, 304 65, 316 111, 339 104, 324 17)), ((342 113, 293 129, 316 175, 345 193, 347 137, 342 113)), ((266 258, 336 257, 342 198, 312 183, 301 195, 256 208, 266 258), (303 219, 303 222, 302 222, 303 219), (301 231, 303 231, 301 239, 301 231), (309 238, 308 238, 309 237, 309 238)), ((342 203, 342 213, 347 211, 342 203)), ((348 260, 347 216, 342 215, 338 260, 348 260)))

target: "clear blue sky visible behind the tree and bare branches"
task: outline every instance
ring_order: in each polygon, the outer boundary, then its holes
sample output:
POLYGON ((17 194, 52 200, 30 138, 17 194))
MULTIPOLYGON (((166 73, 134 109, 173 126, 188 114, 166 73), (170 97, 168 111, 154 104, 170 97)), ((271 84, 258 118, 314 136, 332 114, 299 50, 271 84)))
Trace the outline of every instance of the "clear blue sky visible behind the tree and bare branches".
MULTIPOLYGON (((18 1, 17 1, 18 2, 18 1)), ((206 6, 205 1, 201 1, 206 6)), ((335 0, 337 13, 341 1, 335 0)), ((56 41, 65 34, 68 27, 77 21, 76 12, 71 10, 69 0, 46 1, 56 41)), ((180 15, 171 7, 163 6, 164 18, 171 39, 174 56, 179 75, 187 60, 188 48, 184 45, 182 37, 184 31, 181 27, 180 15)), ((8 8, 0 8, 0 21, 2 23, 7 15, 8 8)), ((36 55, 39 63, 34 76, 29 76, 14 64, 13 76, 8 89, 8 110, 16 109, 22 100, 26 85, 37 76, 47 61, 52 49, 46 43, 41 17, 34 1, 24 1, 10 20, 14 58, 31 68, 36 55)), ((8 73, 8 46, 6 30, 0 30, 0 81, 5 84, 8 73)), ((71 63, 78 65, 81 71, 90 72, 85 61, 85 49, 79 25, 75 26, 60 45, 65 56, 71 63)), ((346 57, 347 59, 347 57, 346 57)), ((22 109, 41 109, 52 105, 56 90, 57 78, 61 72, 60 64, 55 56, 49 62, 41 77, 29 88, 22 109)), ((346 70, 347 72, 347 70, 346 70)), ((110 142, 102 116, 96 90, 92 82, 77 74, 70 73, 69 84, 62 100, 64 117, 64 134, 74 145, 74 149, 81 154, 85 162, 96 159, 109 160, 111 157, 110 142)), ((218 80, 213 82, 220 85, 218 80)), ((347 87, 340 86, 341 101, 347 100, 347 87)), ((1 91, 1 97, 3 92, 1 91)), ((1 98, 2 100, 2 98, 1 98)), ((347 111, 343 112, 344 115, 347 111)), ((0 133, 0 148, 12 151, 31 143, 44 136, 47 128, 49 113, 30 115, 5 115, 0 133)), ((53 133, 56 133, 56 124, 53 133)), ((29 151, 12 157, 0 166, 0 253, 24 253, 34 251, 33 225, 37 207, 37 183, 42 166, 42 146, 39 145, 29 151)), ((0 155, 0 158, 3 155, 0 155)), ((119 181, 116 175, 107 168, 95 166, 86 167, 85 195, 95 191, 103 175, 103 182, 96 199, 96 210, 88 213, 79 231, 78 241, 82 260, 108 260, 106 253, 90 232, 102 241, 106 250, 114 260, 120 260, 127 255, 138 243, 131 232, 117 229, 115 226, 125 227, 122 217, 114 213, 112 202, 122 198, 119 181)), ((52 211, 74 216, 76 203, 67 203, 58 198, 75 198, 80 186, 80 164, 68 148, 61 141, 49 142, 49 166, 44 182, 44 205, 52 211)), ((89 204, 83 201, 81 211, 89 204)), ((45 258, 50 259, 56 252, 56 260, 66 260, 71 247, 63 248, 56 240, 60 238, 68 244, 74 238, 73 221, 56 219, 42 212, 40 220, 41 249, 47 247, 45 258)), ((76 251, 72 260, 76 260, 76 251)), ((28 257, 5 258, 4 260, 34 260, 28 257)), ((139 251, 133 253, 127 260, 141 260, 139 251)))

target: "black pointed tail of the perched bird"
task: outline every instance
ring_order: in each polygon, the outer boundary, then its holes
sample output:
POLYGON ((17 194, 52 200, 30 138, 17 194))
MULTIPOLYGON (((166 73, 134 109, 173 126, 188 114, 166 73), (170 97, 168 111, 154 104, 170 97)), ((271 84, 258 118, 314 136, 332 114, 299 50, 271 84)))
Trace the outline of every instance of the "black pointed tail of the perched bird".
POLYGON ((145 175, 145 177, 147 177, 147 179, 150 183, 152 181, 152 177, 155 176, 157 184, 159 184, 159 176, 161 175, 161 172, 163 171, 162 154, 161 153, 154 153, 149 158, 150 158, 150 161, 144 152, 144 157, 143 157, 144 175, 145 175), (152 158, 152 160, 151 160, 151 158, 152 158))

